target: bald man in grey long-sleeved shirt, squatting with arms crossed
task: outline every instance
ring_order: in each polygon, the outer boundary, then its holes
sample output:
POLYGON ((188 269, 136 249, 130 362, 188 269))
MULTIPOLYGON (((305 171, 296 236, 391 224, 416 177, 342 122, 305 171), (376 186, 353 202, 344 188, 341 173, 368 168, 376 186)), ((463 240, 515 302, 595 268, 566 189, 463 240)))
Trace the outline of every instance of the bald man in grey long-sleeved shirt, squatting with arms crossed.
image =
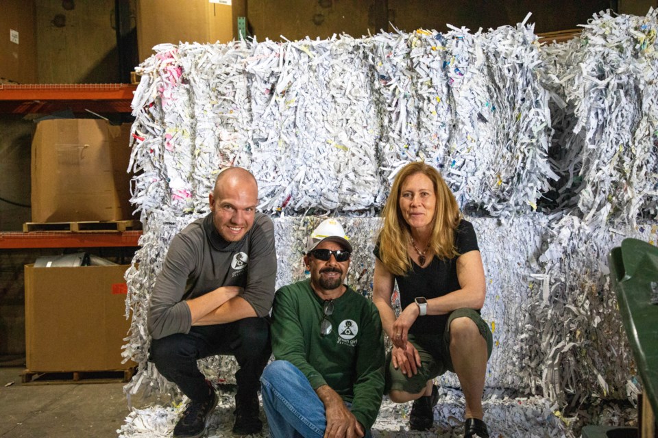
POLYGON ((256 213, 258 185, 243 168, 220 172, 210 214, 171 241, 151 294, 151 361, 190 402, 173 430, 177 438, 204 435, 217 394, 197 359, 233 355, 237 435, 257 433, 260 374, 271 355, 269 311, 274 298, 274 227, 256 213))

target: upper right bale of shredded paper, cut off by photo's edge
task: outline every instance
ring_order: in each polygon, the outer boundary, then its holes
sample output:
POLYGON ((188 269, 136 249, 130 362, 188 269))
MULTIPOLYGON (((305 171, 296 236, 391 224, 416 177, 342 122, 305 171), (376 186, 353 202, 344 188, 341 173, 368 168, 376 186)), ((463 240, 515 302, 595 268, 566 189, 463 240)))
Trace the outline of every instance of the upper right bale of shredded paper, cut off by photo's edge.
POLYGON ((574 40, 542 50, 560 133, 555 198, 587 221, 658 215, 657 16, 601 12, 574 40))

